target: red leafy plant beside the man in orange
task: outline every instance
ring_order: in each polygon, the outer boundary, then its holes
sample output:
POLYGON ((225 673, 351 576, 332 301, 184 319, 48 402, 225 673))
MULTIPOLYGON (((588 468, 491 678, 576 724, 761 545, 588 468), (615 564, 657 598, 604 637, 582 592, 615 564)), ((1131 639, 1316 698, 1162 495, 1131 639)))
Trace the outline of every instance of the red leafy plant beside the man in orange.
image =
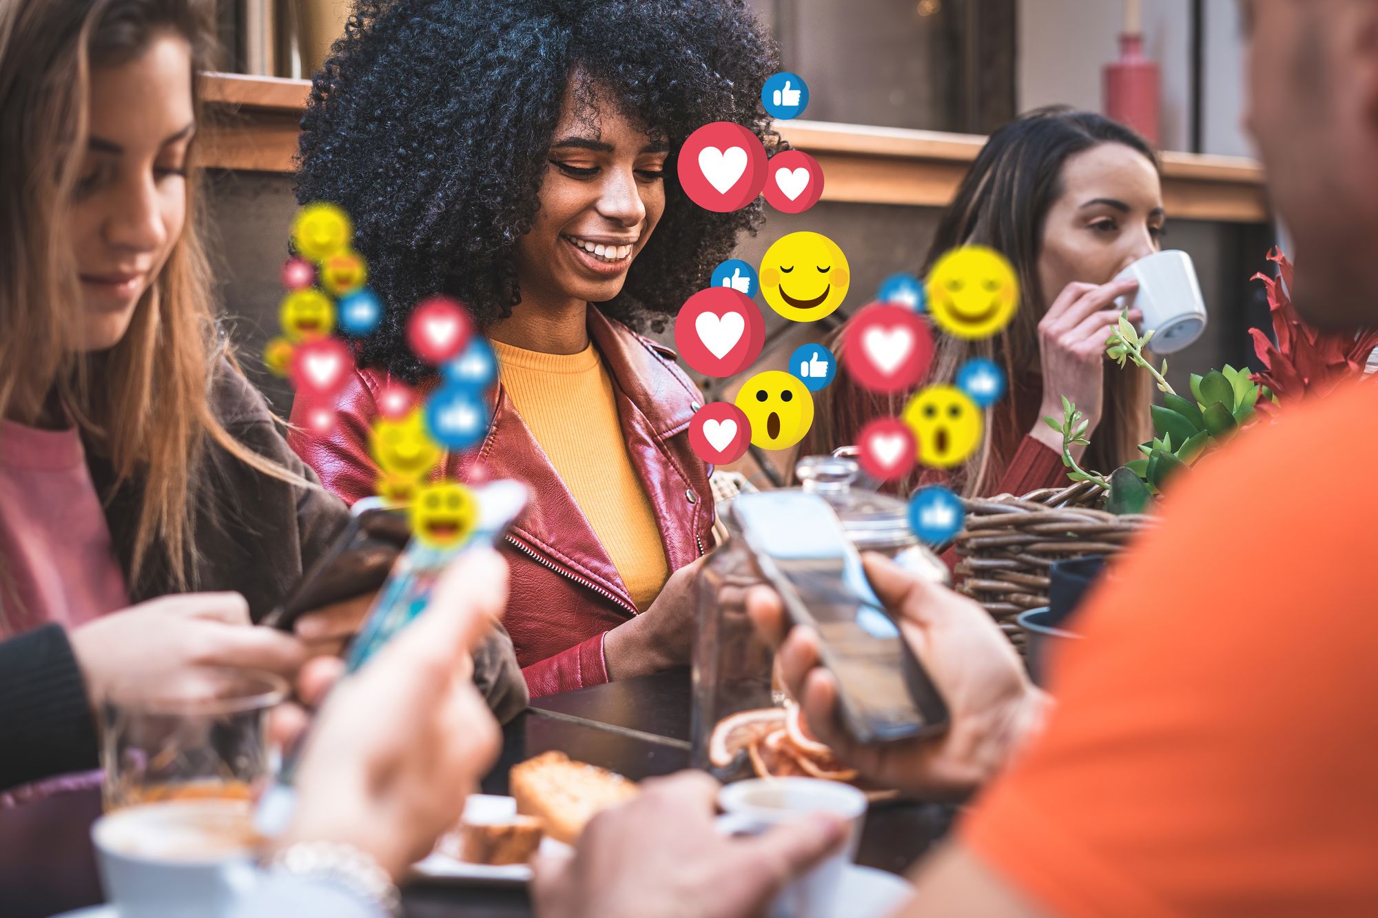
POLYGON ((1363 374, 1370 351, 1378 346, 1378 329, 1353 335, 1312 328, 1291 305, 1291 262, 1279 248, 1268 254, 1268 261, 1277 263, 1279 276, 1258 273, 1250 280, 1264 281, 1277 343, 1259 328, 1250 328, 1248 334, 1254 336, 1254 353, 1264 363, 1264 369, 1253 375, 1264 386, 1257 407, 1261 414, 1273 415, 1280 402, 1323 396, 1346 376, 1363 374))

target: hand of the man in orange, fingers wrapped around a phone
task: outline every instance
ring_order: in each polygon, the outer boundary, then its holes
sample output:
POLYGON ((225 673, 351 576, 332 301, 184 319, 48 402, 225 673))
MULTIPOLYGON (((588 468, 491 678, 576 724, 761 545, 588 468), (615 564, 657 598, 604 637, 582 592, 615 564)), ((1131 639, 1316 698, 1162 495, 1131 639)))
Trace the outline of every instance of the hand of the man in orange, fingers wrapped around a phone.
POLYGON ((836 681, 819 662, 819 635, 788 629, 770 587, 754 587, 747 609, 762 637, 779 645, 781 677, 809 728, 841 761, 882 787, 926 799, 965 799, 1042 728, 1049 699, 978 604, 882 555, 863 560, 876 597, 947 702, 951 724, 941 736, 857 743, 838 714, 836 681))

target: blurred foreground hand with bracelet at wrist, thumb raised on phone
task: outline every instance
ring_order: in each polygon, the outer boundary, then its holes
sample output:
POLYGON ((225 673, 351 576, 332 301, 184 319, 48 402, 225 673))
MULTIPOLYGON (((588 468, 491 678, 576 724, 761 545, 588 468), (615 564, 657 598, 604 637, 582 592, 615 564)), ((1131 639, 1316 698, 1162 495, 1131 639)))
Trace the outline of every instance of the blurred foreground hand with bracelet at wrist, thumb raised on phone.
POLYGON ((500 750, 470 651, 506 604, 506 561, 467 553, 441 575, 426 612, 335 686, 307 740, 280 846, 344 842, 398 878, 459 822, 500 750))

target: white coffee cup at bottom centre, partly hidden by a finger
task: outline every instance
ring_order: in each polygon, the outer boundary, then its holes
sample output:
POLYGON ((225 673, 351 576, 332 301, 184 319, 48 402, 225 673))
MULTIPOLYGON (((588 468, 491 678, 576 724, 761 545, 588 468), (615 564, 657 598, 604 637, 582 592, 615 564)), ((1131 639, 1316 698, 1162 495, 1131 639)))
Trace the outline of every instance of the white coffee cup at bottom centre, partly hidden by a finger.
POLYGON ((785 886, 772 903, 769 918, 832 918, 838 889, 861 844, 867 798, 850 784, 816 777, 757 777, 718 791, 718 831, 757 835, 772 826, 796 823, 810 813, 832 813, 849 823, 841 850, 785 886))

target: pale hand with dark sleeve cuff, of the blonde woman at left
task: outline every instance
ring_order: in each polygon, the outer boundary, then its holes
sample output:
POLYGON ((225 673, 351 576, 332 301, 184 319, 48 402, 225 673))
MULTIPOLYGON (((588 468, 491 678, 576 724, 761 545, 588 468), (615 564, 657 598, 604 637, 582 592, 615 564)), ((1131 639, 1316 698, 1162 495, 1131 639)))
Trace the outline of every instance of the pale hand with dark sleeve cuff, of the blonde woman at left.
POLYGON ((207 666, 296 674, 307 648, 289 634, 249 624, 238 593, 182 593, 141 602, 74 629, 72 651, 92 700, 130 677, 207 666))

